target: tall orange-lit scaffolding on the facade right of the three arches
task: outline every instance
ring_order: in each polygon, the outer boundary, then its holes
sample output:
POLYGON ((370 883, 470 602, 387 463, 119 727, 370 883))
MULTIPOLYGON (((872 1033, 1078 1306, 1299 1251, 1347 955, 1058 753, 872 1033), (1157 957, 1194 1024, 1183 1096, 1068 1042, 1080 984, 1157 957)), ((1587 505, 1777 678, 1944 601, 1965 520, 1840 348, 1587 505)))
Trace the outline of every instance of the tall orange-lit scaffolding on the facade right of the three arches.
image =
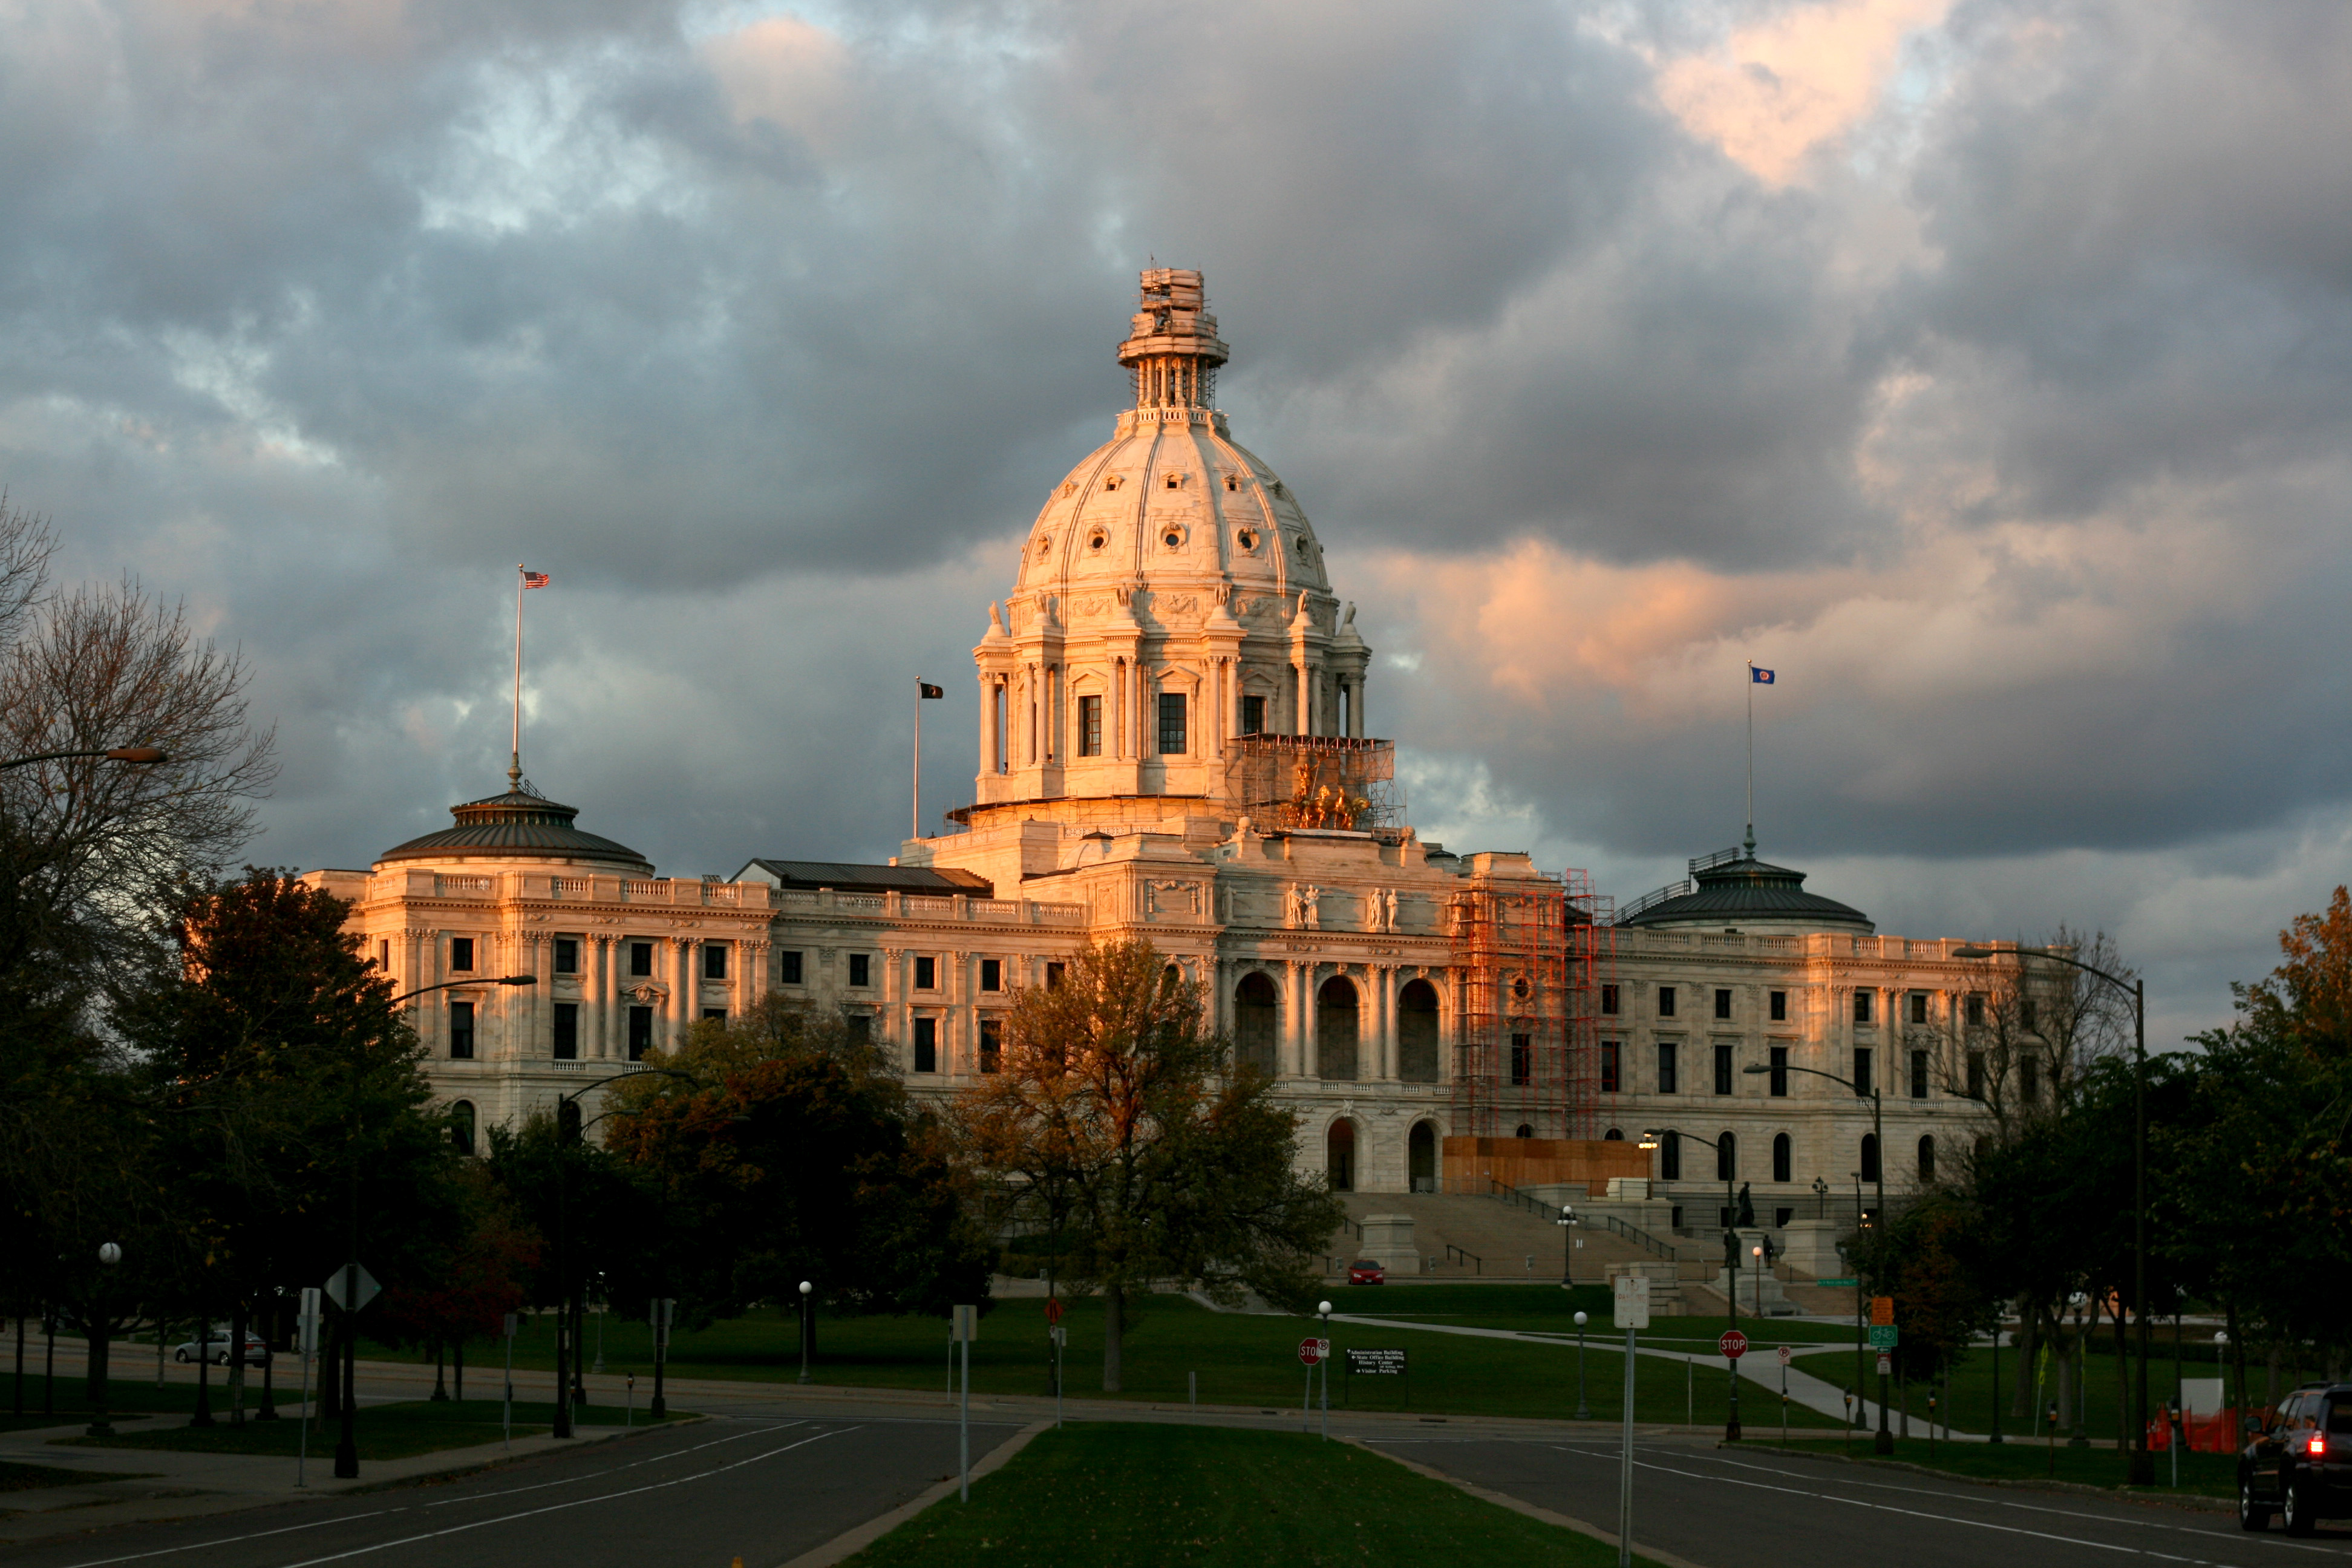
POLYGON ((1454 898, 1456 1135, 1597 1135, 1599 1006, 1602 987, 1616 985, 1609 905, 1581 870, 1536 882, 1479 877, 1454 898))

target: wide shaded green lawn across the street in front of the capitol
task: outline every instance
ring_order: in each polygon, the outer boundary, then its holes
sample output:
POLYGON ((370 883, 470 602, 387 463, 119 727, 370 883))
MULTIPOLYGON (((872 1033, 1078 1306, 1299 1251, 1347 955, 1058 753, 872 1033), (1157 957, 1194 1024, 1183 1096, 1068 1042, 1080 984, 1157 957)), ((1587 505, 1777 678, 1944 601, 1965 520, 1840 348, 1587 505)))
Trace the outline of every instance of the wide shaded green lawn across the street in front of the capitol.
MULTIPOLYGON (((1517 1291, 1519 1286, 1472 1286, 1472 1293, 1517 1291)), ((1541 1286, 1538 1286, 1541 1291, 1541 1286)), ((1557 1286, 1552 1286, 1557 1293, 1557 1286)), ((1402 1291, 1397 1291, 1402 1295, 1402 1291)), ((1442 1302, 1439 1302, 1442 1305, 1442 1302)), ((1508 1305, 1508 1302, 1498 1302, 1508 1305)), ((1468 1321, 1468 1319, 1465 1319, 1468 1321)), ((1675 1319, 1661 1333, 1686 1333, 1675 1319)), ((553 1324, 527 1319, 515 1342, 515 1366, 553 1366, 553 1324)), ((1414 1410, 1423 1415, 1538 1415, 1562 1418, 1576 1408, 1576 1345, 1524 1345, 1510 1340, 1472 1340, 1463 1335, 1421 1333, 1367 1324, 1334 1324, 1336 1349, 1404 1349, 1404 1378, 1345 1378, 1331 1373, 1331 1408, 1414 1410)), ((1103 1302, 1098 1298, 1068 1302, 1063 1326, 1070 1331, 1065 1392, 1084 1399, 1103 1396, 1103 1302)), ((1143 1403, 1183 1403, 1197 1380, 1202 1403, 1298 1408, 1305 1396, 1305 1368, 1298 1363, 1298 1340, 1315 1328, 1298 1316, 1251 1316, 1209 1312, 1181 1295, 1155 1295, 1129 1302, 1124 1347, 1124 1392, 1120 1399, 1143 1403)), ((637 1399, 647 1396, 644 1328, 614 1319, 604 1328, 604 1378, 588 1378, 597 1399, 612 1399, 623 1373, 637 1375, 637 1399)), ((1597 1420, 1618 1418, 1623 1387, 1621 1359, 1595 1335, 1585 1347, 1585 1394, 1597 1420)), ((1693 1335, 1693 1342, 1698 1338, 1693 1335)), ((590 1331, 590 1345, 595 1335, 590 1331)), ((1644 1335, 1644 1342, 1661 1342, 1644 1335)), ((1712 1342, 1712 1335, 1708 1338, 1712 1342)), ((818 1356, 814 1375, 830 1385, 901 1387, 948 1392, 948 1324, 922 1316, 818 1316, 818 1356)), ((1345 1363, 1345 1359, 1341 1359, 1345 1363)), ((487 1363, 480 1356, 477 1366, 487 1363)), ((677 1331, 670 1371, 680 1378, 771 1378, 800 1375, 800 1335, 793 1316, 755 1312, 713 1324, 701 1333, 677 1331)), ((1639 1420, 1684 1420, 1686 1408, 1700 1422, 1724 1418, 1726 1375, 1722 1363, 1700 1366, 1689 1375, 1679 1366, 1642 1359, 1637 1363, 1639 1420)), ((1051 1394, 1047 1375, 1047 1321, 1042 1300, 1007 1300, 981 1319, 981 1338, 971 1347, 971 1389, 976 1394, 1051 1394)), ((1759 1420, 1755 1389, 1745 1389, 1750 1420, 1759 1420)), ((1776 1418, 1778 1420, 1778 1413, 1776 1418)), ((1799 1410, 1792 1425, 1832 1427, 1835 1422, 1799 1410)))

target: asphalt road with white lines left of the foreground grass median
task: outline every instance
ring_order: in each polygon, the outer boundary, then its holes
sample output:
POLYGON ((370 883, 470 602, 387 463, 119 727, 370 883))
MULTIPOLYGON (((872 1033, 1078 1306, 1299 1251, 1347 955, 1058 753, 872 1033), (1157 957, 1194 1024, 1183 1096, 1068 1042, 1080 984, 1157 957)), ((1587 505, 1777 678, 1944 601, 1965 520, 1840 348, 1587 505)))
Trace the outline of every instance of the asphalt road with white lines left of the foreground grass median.
MULTIPOLYGON (((974 1465, 1018 1422, 971 1422, 974 1465)), ((953 1418, 774 1408, 553 1453, 440 1486, 9 1549, 9 1568, 774 1568, 955 1474, 953 1418)))

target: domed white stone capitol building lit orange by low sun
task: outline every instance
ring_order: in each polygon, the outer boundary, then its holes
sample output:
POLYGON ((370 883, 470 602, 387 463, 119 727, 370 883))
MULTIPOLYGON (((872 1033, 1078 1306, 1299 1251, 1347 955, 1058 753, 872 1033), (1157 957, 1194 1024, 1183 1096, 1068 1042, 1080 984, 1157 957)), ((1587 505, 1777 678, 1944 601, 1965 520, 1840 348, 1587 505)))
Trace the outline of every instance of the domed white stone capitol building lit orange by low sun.
POLYGON ((517 769, 369 870, 310 875, 400 990, 459 983, 409 1006, 461 1138, 769 992, 953 1095, 1089 938, 1200 980, 1348 1192, 1581 1182, 1712 1229, 1748 1185, 1773 1227, 1973 1138, 1952 1086, 1987 966, 1959 940, 1882 936, 1752 839, 1618 910, 1404 820, 1345 552, 1235 442, 1225 357, 1202 275, 1143 273, 1131 407, 974 607, 976 790, 948 832, 887 865, 746 844, 731 879, 663 877, 517 769))

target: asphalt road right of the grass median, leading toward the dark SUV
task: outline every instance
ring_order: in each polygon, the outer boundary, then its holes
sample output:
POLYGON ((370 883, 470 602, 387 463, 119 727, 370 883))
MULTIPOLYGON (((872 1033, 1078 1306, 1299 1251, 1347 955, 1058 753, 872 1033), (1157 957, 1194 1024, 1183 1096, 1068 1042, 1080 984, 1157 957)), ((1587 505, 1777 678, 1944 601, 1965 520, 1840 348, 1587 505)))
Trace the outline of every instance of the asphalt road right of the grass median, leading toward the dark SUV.
MULTIPOLYGON (((1616 1530, 1613 1439, 1374 1436, 1371 1446, 1449 1476, 1616 1530)), ((2352 1563, 2352 1523, 2288 1540, 2232 1514, 2091 1495, 1971 1486, 1865 1465, 1733 1453, 1691 1441, 1635 1443, 1632 1540, 1705 1568, 2084 1568, 2352 1563)))

